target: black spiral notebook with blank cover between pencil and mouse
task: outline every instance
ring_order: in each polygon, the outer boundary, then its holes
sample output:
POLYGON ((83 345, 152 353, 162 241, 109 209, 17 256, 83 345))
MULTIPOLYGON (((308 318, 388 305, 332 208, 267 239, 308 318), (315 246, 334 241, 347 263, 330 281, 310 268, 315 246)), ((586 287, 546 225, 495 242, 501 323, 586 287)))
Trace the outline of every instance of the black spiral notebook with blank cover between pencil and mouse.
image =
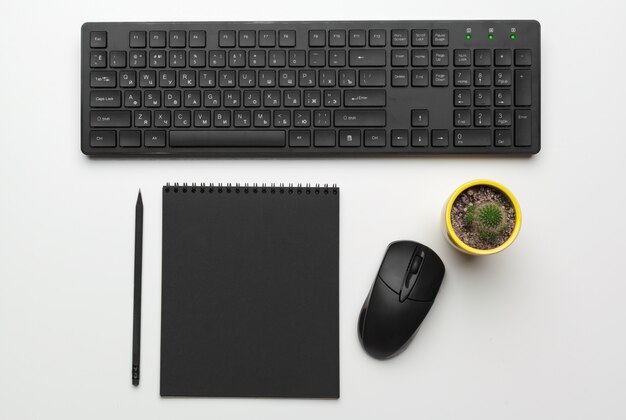
POLYGON ((339 189, 163 187, 161 395, 339 398, 339 189))

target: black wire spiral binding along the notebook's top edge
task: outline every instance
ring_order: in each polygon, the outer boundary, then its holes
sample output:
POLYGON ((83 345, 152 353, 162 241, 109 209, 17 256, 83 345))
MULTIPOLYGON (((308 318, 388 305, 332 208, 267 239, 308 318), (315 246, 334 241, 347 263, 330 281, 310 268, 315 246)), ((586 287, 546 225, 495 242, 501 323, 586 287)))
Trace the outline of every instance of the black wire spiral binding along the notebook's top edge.
POLYGON ((209 183, 207 186, 206 183, 202 182, 200 185, 197 185, 195 182, 191 183, 191 185, 184 182, 180 185, 178 182, 174 182, 173 185, 169 182, 165 184, 163 187, 163 191, 166 193, 192 193, 192 194, 258 194, 258 193, 270 193, 270 194, 333 194, 337 195, 339 193, 339 187, 337 184, 333 184, 329 186, 328 184, 315 184, 315 186, 311 186, 311 184, 213 184, 209 183))

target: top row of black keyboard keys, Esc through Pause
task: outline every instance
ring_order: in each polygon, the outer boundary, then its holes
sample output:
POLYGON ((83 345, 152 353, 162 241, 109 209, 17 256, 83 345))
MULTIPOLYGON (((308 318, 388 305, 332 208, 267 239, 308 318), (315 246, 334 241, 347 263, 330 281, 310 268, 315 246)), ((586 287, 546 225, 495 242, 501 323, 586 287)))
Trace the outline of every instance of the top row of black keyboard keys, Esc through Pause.
MULTIPOLYGON (((385 47, 387 38, 392 47, 448 46, 449 31, 447 29, 312 29, 308 31, 309 47, 385 47)), ((130 31, 130 48, 205 48, 207 44, 206 31, 130 31)), ((222 30, 218 32, 218 45, 221 48, 265 47, 295 47, 295 30, 222 30), (277 34, 278 32, 278 34, 277 34)), ((107 32, 92 31, 90 33, 91 48, 107 47, 107 32)))

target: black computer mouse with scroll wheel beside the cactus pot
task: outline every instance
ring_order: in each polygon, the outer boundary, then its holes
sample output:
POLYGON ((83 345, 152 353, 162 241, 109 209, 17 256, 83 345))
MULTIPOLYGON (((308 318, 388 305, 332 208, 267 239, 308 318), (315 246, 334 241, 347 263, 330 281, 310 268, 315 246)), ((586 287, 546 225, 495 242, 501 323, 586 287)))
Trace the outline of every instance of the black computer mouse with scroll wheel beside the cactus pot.
POLYGON ((359 340, 377 359, 400 354, 433 305, 445 267, 425 245, 392 242, 359 315, 359 340))

